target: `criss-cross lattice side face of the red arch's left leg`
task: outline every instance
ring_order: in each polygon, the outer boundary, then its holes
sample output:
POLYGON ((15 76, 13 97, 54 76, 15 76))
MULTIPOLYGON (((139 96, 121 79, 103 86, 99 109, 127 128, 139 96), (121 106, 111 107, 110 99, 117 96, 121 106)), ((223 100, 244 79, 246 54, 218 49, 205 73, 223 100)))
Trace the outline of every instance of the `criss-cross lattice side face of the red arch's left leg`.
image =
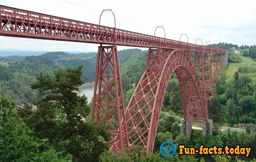
POLYGON ((160 77, 160 62, 162 62, 160 59, 165 60, 166 56, 166 53, 160 53, 159 50, 148 50, 147 68, 126 109, 126 122, 130 123, 127 127, 128 134, 130 134, 130 145, 136 143, 145 148, 147 146, 154 96, 160 77), (160 57, 161 55, 162 57, 160 57))

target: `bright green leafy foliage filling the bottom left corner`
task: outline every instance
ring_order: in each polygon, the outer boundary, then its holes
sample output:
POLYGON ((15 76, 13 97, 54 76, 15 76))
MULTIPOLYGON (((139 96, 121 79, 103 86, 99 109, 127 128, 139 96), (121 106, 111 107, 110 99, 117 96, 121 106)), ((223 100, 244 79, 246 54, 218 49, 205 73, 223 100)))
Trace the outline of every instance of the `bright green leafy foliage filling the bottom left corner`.
POLYGON ((14 101, 0 98, 0 161, 72 161, 70 154, 62 157, 51 148, 47 139, 34 137, 14 107, 14 101))

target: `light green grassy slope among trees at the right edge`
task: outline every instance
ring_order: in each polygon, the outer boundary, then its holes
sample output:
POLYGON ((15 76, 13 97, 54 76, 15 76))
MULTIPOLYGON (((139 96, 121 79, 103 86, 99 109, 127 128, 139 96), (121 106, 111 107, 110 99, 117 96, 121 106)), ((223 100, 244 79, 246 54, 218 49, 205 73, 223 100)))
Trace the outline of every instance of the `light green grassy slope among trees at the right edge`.
MULTIPOLYGON (((251 58, 240 56, 243 59, 243 62, 239 63, 229 63, 227 68, 225 68, 225 74, 227 76, 227 80, 231 79, 234 76, 234 73, 238 71, 239 67, 255 67, 256 61, 253 61, 251 58)), ((256 81, 256 73, 248 73, 246 74, 251 77, 252 80, 256 81)))

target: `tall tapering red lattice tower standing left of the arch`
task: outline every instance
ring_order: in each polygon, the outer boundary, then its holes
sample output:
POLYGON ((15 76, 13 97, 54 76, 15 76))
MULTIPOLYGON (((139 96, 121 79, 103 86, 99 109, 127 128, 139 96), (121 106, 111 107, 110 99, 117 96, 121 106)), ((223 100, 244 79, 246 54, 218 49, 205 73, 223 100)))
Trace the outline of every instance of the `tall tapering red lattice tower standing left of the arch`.
MULTIPOLYGON (((112 149, 123 151, 127 139, 123 92, 116 46, 99 46, 91 123, 108 124, 112 149)), ((127 142, 126 142, 127 143, 127 142)))

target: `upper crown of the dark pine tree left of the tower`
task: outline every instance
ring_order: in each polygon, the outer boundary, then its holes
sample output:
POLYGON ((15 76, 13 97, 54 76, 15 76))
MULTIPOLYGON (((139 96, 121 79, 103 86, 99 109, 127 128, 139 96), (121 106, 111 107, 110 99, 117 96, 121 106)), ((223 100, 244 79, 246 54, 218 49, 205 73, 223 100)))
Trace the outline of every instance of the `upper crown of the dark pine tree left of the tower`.
POLYGON ((50 109, 60 109, 66 115, 68 135, 75 133, 82 117, 88 115, 87 97, 77 95, 78 86, 84 83, 81 80, 82 66, 78 68, 58 69, 54 72, 55 77, 49 73, 40 73, 37 81, 32 83, 32 89, 38 89, 45 97, 38 101, 38 105, 47 104, 50 109))

